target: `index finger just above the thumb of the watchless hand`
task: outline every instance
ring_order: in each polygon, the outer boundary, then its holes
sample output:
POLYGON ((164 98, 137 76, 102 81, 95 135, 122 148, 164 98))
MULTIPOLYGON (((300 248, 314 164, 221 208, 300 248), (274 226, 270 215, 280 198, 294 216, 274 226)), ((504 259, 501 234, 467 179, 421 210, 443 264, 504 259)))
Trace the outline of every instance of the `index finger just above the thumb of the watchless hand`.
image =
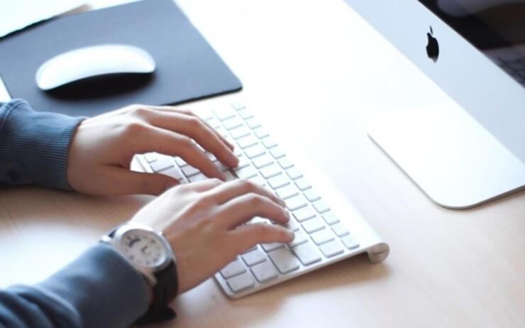
POLYGON ((140 136, 136 136, 136 140, 136 153, 155 151, 165 155, 179 156, 186 163, 200 170, 206 177, 226 179, 204 151, 187 136, 156 126, 147 126, 140 136))

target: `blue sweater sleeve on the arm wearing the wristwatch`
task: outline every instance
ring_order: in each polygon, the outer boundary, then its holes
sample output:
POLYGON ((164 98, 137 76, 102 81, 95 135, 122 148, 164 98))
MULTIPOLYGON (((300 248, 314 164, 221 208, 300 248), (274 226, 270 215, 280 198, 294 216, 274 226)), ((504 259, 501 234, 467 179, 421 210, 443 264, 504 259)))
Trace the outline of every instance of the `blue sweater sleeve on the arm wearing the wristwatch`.
POLYGON ((147 288, 125 258, 99 244, 43 283, 0 291, 0 327, 128 327, 148 310, 147 288))

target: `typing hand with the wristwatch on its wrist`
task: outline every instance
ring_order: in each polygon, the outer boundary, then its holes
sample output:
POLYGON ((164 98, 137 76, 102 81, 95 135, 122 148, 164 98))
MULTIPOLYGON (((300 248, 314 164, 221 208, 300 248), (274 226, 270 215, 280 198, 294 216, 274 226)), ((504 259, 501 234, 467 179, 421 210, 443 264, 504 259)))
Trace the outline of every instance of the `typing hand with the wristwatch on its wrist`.
POLYGON ((132 221, 162 231, 170 241, 177 258, 179 293, 184 293, 255 244, 294 239, 293 232, 282 226, 242 225, 253 217, 289 221, 284 202, 260 185, 211 179, 168 190, 132 221))

